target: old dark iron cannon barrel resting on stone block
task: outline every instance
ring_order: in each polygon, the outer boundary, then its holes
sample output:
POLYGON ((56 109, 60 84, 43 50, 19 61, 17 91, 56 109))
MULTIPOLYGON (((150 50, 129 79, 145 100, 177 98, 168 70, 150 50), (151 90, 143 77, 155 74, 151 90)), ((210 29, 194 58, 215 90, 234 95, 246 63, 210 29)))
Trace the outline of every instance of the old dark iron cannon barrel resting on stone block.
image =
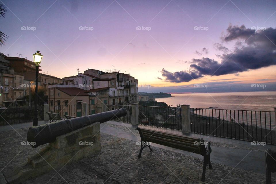
POLYGON ((31 144, 33 148, 38 147, 40 145, 55 141, 55 138, 60 135, 64 135, 76 129, 80 129, 89 124, 95 122, 103 123, 125 115, 127 115, 127 110, 125 108, 121 108, 89 116, 64 119, 57 122, 43 124, 37 127, 30 127, 27 134, 27 140, 28 142, 35 142, 35 144, 31 144))

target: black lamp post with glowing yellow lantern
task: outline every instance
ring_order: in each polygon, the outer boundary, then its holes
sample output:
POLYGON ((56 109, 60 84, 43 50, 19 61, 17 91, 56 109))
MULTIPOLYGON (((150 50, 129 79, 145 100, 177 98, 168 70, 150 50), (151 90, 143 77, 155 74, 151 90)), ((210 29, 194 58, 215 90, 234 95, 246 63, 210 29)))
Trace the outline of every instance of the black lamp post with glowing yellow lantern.
POLYGON ((34 95, 34 118, 33 118, 33 126, 36 127, 38 123, 38 117, 37 117, 37 91, 38 91, 38 67, 41 62, 41 59, 43 55, 37 51, 32 55, 34 57, 34 63, 36 67, 35 71, 35 95, 34 95))

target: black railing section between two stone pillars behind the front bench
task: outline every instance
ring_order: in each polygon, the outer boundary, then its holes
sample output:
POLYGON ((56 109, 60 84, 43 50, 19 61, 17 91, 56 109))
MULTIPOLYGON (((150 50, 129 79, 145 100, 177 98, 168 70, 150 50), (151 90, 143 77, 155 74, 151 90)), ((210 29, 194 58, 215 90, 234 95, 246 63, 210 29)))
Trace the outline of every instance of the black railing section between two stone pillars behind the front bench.
POLYGON ((138 106, 139 124, 182 130, 181 107, 138 106))

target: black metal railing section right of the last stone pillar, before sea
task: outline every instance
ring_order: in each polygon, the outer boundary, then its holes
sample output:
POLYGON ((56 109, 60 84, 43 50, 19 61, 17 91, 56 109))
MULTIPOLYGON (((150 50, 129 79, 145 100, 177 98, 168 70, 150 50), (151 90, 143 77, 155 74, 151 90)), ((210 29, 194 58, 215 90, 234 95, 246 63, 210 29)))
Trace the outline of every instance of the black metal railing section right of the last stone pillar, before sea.
POLYGON ((273 111, 190 108, 190 121, 194 133, 276 144, 273 111))

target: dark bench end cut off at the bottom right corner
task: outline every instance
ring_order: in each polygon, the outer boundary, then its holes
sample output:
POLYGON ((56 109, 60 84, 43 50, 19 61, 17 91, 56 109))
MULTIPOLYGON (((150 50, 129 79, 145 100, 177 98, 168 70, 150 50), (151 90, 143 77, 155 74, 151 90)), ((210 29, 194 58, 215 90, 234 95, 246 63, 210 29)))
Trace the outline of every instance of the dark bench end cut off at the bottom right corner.
POLYGON ((276 152, 272 152, 271 149, 268 149, 265 152, 265 165, 267 171, 266 184, 271 184, 271 172, 276 172, 276 152))

